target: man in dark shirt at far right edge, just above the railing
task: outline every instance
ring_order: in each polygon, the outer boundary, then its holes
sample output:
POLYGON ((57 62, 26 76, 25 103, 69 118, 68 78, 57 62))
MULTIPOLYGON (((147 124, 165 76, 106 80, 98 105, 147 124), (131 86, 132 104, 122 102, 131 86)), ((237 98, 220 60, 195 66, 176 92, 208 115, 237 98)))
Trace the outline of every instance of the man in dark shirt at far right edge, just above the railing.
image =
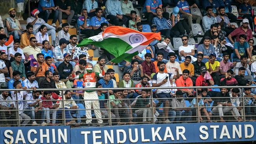
MULTIPOLYGON (((236 81, 238 82, 238 85, 241 86, 250 86, 251 84, 256 84, 254 81, 247 81, 245 78, 245 67, 240 67, 238 70, 238 75, 235 76, 236 81)), ((250 79, 250 76, 248 76, 250 79)))

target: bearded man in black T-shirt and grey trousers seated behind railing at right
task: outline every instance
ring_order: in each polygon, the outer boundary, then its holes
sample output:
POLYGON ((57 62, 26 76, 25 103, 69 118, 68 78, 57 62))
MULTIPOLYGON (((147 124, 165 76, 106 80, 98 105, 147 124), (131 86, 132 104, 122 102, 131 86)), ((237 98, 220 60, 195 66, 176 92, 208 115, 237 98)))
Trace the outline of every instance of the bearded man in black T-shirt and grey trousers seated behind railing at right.
MULTIPOLYGON (((213 103, 213 109, 212 112, 215 114, 219 114, 220 121, 224 121, 224 113, 231 112, 233 116, 240 116, 238 110, 236 107, 232 106, 231 100, 230 100, 230 94, 228 93, 227 88, 222 88, 221 92, 216 91, 209 91, 207 95, 212 98, 214 101, 213 103), (214 97, 221 97, 221 98, 214 98, 214 97)), ((238 120, 242 120, 241 117, 237 118, 238 120)))

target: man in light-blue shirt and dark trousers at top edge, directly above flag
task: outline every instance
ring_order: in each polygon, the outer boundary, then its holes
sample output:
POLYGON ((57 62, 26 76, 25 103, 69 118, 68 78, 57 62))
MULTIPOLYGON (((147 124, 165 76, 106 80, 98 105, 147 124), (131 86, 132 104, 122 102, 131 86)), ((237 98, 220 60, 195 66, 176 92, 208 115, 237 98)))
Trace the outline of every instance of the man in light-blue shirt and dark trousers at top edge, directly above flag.
POLYGON ((127 26, 127 18, 122 13, 121 4, 118 0, 107 0, 106 1, 106 16, 110 19, 111 24, 115 26, 127 26))

